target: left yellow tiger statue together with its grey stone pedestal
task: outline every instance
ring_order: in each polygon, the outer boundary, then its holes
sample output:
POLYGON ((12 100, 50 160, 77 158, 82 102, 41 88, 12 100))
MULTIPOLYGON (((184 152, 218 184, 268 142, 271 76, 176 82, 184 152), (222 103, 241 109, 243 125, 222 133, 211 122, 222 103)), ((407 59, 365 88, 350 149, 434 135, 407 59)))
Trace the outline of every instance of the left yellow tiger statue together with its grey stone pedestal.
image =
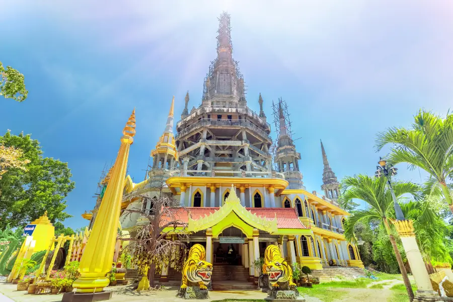
POLYGON ((211 282, 211 275, 212 264, 206 262, 206 250, 200 244, 193 245, 184 263, 181 287, 176 296, 186 299, 209 298, 206 285, 211 282))

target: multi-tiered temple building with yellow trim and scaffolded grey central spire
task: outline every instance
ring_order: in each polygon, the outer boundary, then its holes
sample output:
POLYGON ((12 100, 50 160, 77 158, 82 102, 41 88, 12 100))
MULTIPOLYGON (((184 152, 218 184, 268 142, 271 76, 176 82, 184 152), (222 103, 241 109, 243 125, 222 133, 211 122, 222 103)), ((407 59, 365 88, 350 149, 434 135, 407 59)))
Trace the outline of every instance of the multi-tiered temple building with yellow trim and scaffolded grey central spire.
MULTIPOLYGON (((349 213, 337 203, 339 182, 322 142, 324 195, 304 186, 284 102, 275 105, 275 143, 261 94, 259 113, 248 107, 243 75, 232 56, 230 15, 222 13, 218 20, 217 57, 204 79, 201 105, 189 110, 187 92, 174 127, 173 97, 146 179, 133 183, 126 178, 123 208, 150 209, 152 202, 137 194, 167 194, 187 207, 189 214, 182 219, 188 223, 190 243, 205 246, 206 260, 214 265, 213 285, 216 269, 221 271, 216 266, 236 265, 258 276, 252 263, 269 244, 278 245, 288 261, 311 269, 363 267, 357 248, 343 235, 349 213), (164 188, 156 190, 160 184, 164 188)), ((92 221, 100 198, 88 216, 92 221)), ((143 221, 139 213, 120 217, 131 236, 143 221)), ((163 279, 167 273, 163 270, 163 279)))

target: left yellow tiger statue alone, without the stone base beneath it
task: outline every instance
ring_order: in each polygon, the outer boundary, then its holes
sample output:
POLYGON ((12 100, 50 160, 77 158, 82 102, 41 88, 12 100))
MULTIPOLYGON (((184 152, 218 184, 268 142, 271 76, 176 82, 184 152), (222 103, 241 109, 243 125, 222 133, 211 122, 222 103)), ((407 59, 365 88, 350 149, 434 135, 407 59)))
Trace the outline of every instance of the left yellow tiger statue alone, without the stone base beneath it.
POLYGON ((193 245, 183 266, 181 288, 186 288, 187 281, 190 281, 198 282, 200 289, 207 289, 206 285, 211 281, 211 274, 212 264, 206 262, 206 250, 200 244, 193 245))

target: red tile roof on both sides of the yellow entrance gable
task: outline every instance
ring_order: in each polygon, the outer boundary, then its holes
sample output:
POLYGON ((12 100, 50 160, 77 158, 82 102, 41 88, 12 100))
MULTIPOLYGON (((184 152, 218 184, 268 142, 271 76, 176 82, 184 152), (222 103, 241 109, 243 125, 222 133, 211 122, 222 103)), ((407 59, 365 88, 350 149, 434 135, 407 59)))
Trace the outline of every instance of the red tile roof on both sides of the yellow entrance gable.
MULTIPOLYGON (((218 210, 218 207, 187 207, 190 217, 194 220, 200 216, 209 215, 218 210)), ((302 222, 300 222, 297 212, 294 208, 246 208, 248 211, 266 218, 273 220, 277 216, 277 228, 279 229, 309 229, 302 222)), ((187 223, 189 220, 188 212, 181 210, 178 213, 178 218, 182 222, 187 223)))

